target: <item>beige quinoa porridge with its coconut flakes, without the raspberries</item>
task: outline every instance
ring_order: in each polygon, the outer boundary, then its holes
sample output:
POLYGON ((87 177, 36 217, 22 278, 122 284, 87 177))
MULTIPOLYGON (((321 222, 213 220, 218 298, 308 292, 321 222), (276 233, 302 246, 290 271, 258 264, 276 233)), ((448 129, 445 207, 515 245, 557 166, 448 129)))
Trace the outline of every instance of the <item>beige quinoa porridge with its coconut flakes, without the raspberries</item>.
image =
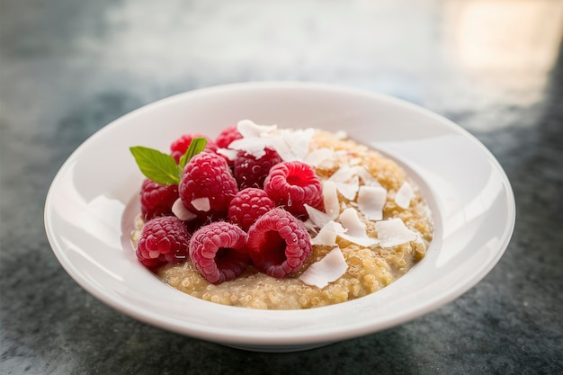
MULTIPOLYGON (((304 146, 299 146, 305 149, 296 153, 317 174, 324 204, 320 210, 307 206, 307 215, 300 218, 311 246, 310 254, 295 271, 273 277, 250 262, 236 278, 210 282, 186 256, 183 262, 157 266, 156 275, 177 290, 219 304, 317 308, 380 290, 423 259, 433 238, 433 224, 416 183, 397 163, 344 134, 307 131, 305 136, 299 132, 290 138, 298 144, 307 138, 304 146), (321 265, 327 254, 336 261, 321 265), (313 264, 319 266, 310 275, 308 269, 313 264), (335 264, 340 271, 330 274, 335 264)), ((238 141, 243 147, 244 139, 238 141)), ((283 159, 282 150, 280 154, 283 159)), ((145 221, 140 215, 136 219, 131 234, 135 246, 145 221)))

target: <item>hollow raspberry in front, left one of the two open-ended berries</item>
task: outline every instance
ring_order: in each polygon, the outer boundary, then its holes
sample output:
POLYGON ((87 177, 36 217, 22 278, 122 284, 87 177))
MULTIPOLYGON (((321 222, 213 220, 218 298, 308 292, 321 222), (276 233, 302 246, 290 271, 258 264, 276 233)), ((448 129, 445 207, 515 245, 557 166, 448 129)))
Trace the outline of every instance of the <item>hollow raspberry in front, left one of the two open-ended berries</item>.
POLYGON ((190 258, 205 280, 230 281, 248 266, 246 232, 225 221, 214 221, 193 233, 190 258))

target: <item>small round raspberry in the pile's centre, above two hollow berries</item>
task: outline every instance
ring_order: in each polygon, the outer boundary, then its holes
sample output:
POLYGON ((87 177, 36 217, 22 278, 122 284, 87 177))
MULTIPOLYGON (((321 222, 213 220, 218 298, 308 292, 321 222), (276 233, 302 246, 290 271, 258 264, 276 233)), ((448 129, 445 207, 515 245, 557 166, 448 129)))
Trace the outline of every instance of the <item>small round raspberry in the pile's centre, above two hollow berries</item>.
POLYGON ((272 210, 275 203, 262 189, 246 188, 237 192, 228 206, 228 220, 245 231, 264 213, 272 210))

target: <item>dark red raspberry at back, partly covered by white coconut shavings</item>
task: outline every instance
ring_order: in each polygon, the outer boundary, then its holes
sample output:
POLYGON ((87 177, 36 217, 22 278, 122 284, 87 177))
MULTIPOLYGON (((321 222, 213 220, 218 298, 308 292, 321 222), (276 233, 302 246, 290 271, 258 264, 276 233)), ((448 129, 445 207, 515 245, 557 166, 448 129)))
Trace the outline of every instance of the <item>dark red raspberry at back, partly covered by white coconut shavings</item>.
POLYGON ((264 156, 256 159, 255 156, 238 151, 235 159, 235 178, 237 178, 238 187, 245 189, 247 187, 261 188, 264 186, 264 179, 270 172, 273 165, 281 162, 281 157, 271 148, 265 148, 264 156))

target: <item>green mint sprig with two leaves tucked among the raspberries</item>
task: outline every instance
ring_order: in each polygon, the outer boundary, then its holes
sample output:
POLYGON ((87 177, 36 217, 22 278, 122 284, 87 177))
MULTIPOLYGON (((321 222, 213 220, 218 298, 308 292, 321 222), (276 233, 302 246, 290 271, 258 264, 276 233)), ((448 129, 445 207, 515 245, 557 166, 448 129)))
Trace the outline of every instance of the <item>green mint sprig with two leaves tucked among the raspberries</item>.
POLYGON ((207 140, 205 138, 193 138, 192 142, 190 142, 190 147, 180 157, 178 164, 176 164, 174 157, 154 148, 134 146, 130 147, 130 151, 133 157, 135 157, 141 173, 147 178, 162 185, 177 185, 180 183, 183 167, 188 164, 193 156, 201 153, 206 144, 207 140))

